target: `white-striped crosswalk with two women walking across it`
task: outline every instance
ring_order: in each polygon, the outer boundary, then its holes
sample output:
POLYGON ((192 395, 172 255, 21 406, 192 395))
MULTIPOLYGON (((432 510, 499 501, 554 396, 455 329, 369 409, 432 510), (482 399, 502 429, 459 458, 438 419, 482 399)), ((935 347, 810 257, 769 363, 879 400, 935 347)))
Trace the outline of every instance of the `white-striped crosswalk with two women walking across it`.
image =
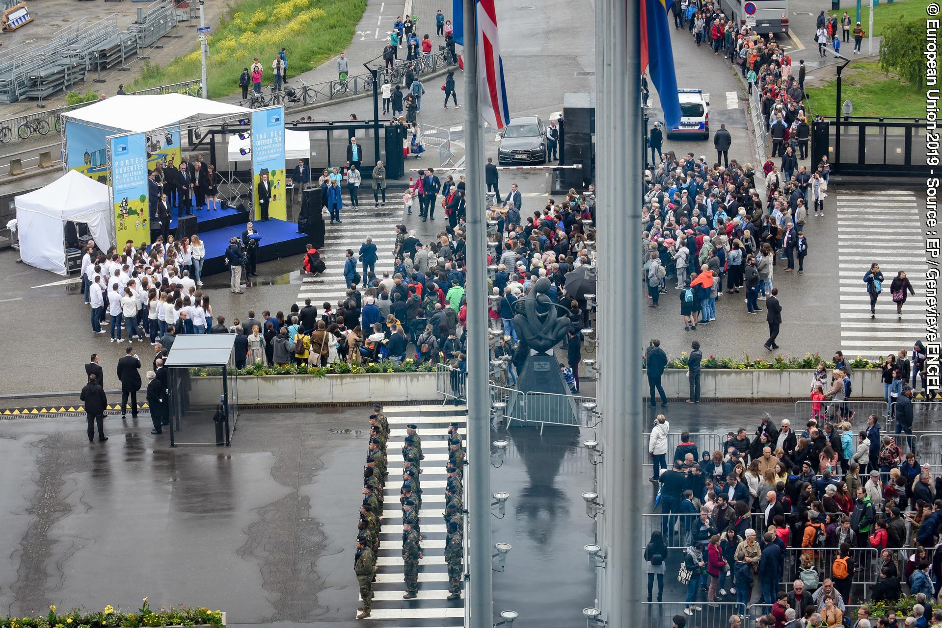
POLYGON ((920 320, 926 307, 918 198, 905 190, 838 192, 836 214, 841 349, 850 357, 869 359, 911 349, 924 329, 920 320), (880 264, 884 282, 871 317, 864 275, 874 262, 880 264), (916 290, 915 296, 907 293, 901 319, 890 295, 890 284, 900 271, 916 290))

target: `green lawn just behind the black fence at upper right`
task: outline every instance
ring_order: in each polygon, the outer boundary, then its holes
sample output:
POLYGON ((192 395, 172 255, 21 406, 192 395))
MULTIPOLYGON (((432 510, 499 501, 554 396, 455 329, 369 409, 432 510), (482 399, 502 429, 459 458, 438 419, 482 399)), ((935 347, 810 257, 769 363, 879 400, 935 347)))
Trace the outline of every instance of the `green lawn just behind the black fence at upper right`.
MULTIPOLYGON (((834 116, 837 81, 807 87, 811 108, 816 115, 834 116)), ((886 118, 925 118, 926 95, 917 87, 901 82, 896 74, 887 74, 876 63, 854 63, 843 72, 840 98, 851 99, 853 116, 886 118)))

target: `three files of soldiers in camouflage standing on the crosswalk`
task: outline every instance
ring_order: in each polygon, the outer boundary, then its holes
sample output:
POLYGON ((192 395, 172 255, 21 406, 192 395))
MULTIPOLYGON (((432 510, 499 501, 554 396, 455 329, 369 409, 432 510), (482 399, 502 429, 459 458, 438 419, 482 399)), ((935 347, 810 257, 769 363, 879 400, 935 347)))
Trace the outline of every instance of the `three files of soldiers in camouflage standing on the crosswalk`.
MULTIPOLYGON (((382 405, 373 404, 373 414, 369 416, 369 444, 366 464, 363 471, 363 504, 360 506, 359 533, 356 540, 356 555, 353 570, 360 585, 360 597, 363 604, 357 608, 358 620, 370 616, 373 603, 373 583, 378 571, 376 557, 380 549, 382 512, 385 509, 384 491, 387 468, 386 446, 390 429, 382 405)), ((418 594, 418 561, 422 557, 422 439, 414 424, 406 426, 406 436, 402 446, 402 487, 399 492, 399 505, 402 509, 402 561, 406 592, 404 600, 414 600, 418 594)), ((442 513, 446 526, 445 561, 448 570, 447 600, 461 597, 462 573, 464 560, 463 544, 463 476, 464 446, 458 432, 458 423, 448 426, 448 462, 445 484, 445 510, 442 513)), ((398 474, 397 474, 398 475, 398 474)))

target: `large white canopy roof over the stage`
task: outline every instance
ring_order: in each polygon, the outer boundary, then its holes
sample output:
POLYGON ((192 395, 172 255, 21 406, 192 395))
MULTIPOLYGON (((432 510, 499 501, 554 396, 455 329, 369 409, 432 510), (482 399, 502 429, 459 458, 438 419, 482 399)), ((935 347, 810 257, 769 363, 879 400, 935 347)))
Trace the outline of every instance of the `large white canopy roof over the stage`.
POLYGON ((63 118, 107 127, 116 133, 143 133, 190 118, 212 118, 243 112, 251 114, 252 109, 186 94, 156 94, 112 96, 63 114, 63 118))

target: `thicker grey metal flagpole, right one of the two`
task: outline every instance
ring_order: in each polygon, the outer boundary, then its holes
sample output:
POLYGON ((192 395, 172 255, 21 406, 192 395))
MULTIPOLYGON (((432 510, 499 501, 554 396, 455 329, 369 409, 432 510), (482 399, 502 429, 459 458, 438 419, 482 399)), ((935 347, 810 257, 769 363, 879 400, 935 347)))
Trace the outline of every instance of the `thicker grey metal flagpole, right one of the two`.
MULTIPOLYGON (((641 0, 642 2, 644 0, 641 0)), ((641 240, 642 138, 641 39, 638 2, 596 0, 596 170, 599 314, 605 343, 598 347, 598 409, 602 413, 604 507, 599 516, 606 570, 599 609, 608 628, 629 628, 646 620, 638 540, 642 529, 642 292, 625 273, 638 270, 641 240), (627 234, 627 237, 625 237, 627 234), (617 323, 616 322, 620 322, 617 323), (607 333, 605 333, 607 331, 607 333), (634 480, 626 480, 634 478, 634 480)), ((648 16, 651 19, 652 16, 648 16)), ((656 19, 656 18, 655 18, 656 19)))

